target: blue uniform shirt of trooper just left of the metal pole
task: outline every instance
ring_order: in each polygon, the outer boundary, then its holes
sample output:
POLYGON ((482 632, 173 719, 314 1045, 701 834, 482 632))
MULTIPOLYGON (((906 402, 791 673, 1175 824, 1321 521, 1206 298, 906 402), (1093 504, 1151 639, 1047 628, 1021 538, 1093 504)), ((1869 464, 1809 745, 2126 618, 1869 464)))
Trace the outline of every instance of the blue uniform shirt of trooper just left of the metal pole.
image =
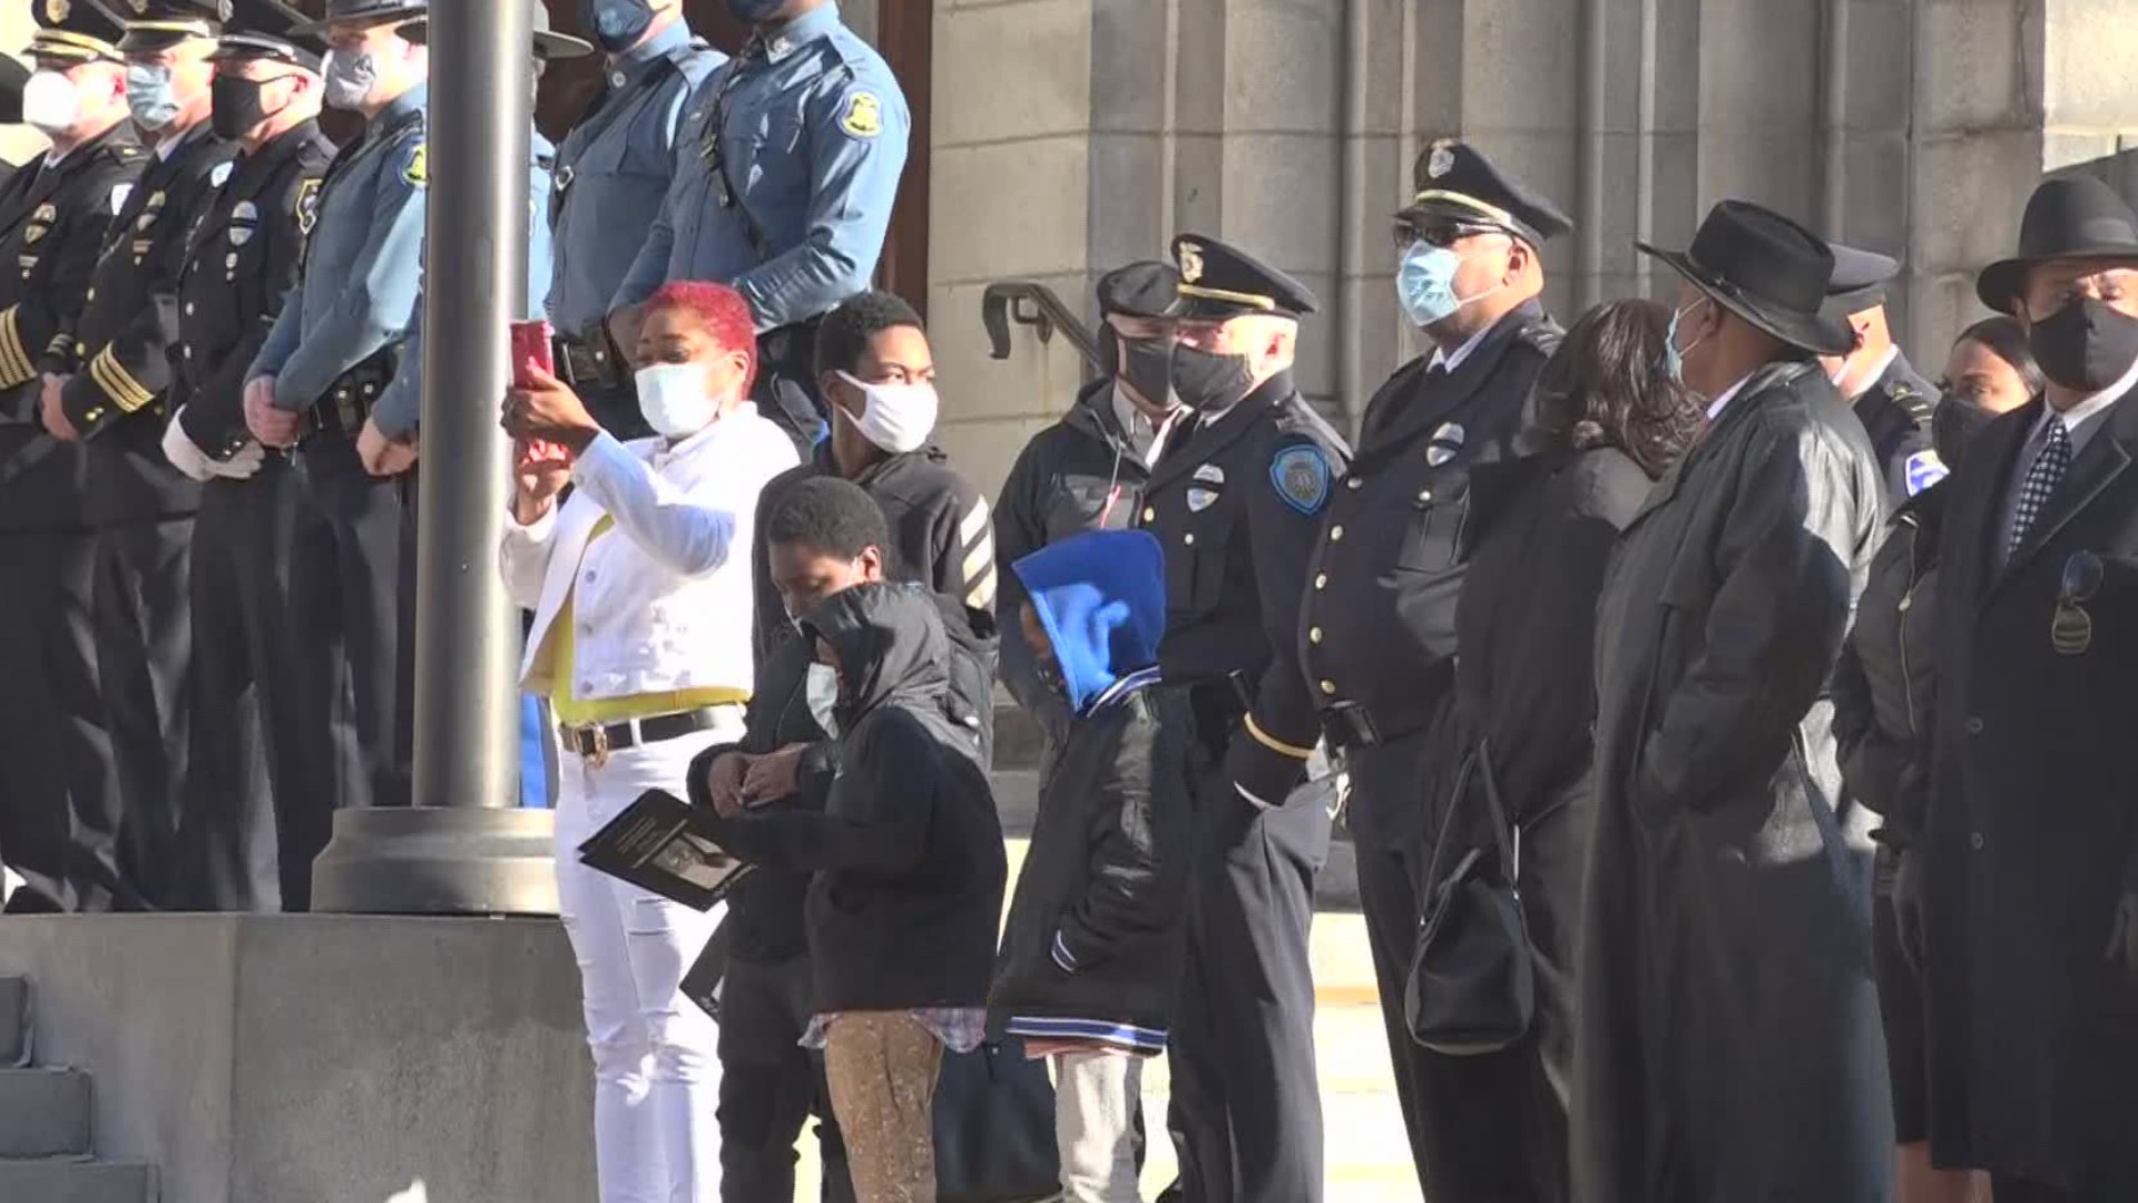
POLYGON ((423 274, 423 105, 417 83, 363 128, 327 173, 304 280, 282 304, 252 377, 276 377, 274 402, 310 409, 348 368, 408 334, 423 274))

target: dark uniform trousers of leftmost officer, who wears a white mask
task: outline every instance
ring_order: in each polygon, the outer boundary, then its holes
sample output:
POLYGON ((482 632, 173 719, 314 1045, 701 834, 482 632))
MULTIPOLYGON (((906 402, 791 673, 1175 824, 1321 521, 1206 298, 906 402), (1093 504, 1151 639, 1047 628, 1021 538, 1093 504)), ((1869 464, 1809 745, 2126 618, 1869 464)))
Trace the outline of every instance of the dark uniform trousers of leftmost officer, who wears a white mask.
POLYGON ((0 858, 11 912, 145 910, 96 668, 96 535, 0 531, 0 858))

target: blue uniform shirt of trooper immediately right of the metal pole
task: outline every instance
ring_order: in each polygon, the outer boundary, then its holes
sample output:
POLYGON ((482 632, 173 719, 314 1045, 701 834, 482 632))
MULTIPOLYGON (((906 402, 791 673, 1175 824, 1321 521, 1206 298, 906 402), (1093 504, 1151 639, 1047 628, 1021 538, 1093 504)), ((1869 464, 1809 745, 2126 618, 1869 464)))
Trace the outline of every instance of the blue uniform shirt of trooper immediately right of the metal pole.
POLYGON ((727 56, 676 21, 605 68, 607 94, 556 156, 552 223, 556 274, 549 323, 582 334, 609 315, 609 300, 661 216, 676 176, 684 101, 727 56))

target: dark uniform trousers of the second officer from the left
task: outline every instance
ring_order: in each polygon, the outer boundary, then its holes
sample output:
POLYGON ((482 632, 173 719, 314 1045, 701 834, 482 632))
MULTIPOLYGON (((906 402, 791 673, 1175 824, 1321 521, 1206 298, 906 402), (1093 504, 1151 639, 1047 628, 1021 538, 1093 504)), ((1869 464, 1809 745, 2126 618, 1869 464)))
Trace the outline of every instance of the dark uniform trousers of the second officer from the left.
POLYGON ((177 905, 177 824, 192 715, 192 516, 96 531, 96 681, 120 775, 120 878, 154 910, 177 905))

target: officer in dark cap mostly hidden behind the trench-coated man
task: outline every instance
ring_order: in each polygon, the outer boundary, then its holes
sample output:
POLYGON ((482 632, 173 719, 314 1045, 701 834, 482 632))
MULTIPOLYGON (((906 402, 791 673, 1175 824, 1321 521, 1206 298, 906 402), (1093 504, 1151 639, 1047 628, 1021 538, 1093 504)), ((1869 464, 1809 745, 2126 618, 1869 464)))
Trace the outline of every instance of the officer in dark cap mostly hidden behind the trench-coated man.
POLYGON ((1839 242, 1828 246, 1834 248, 1834 280, 1826 287, 1826 315, 1849 323, 1856 349, 1845 357, 1822 355, 1819 364, 1871 435, 1871 450, 1886 471, 1888 501, 1901 505, 1946 479, 1946 465, 1931 450, 1937 385, 1907 362, 1886 319, 1886 285, 1901 263, 1839 242))

